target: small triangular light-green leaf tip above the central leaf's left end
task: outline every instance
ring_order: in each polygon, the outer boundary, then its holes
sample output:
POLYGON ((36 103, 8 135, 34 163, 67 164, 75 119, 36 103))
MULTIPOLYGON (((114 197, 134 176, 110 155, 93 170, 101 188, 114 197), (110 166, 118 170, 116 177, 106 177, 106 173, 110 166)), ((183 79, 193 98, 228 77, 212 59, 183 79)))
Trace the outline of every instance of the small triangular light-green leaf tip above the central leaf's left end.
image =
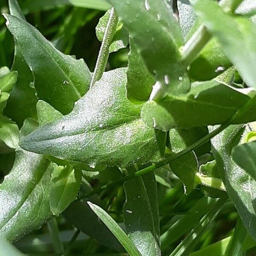
POLYGON ((49 103, 39 100, 36 105, 36 110, 38 114, 38 124, 39 126, 45 125, 54 120, 61 119, 63 116, 58 110, 53 108, 49 103))

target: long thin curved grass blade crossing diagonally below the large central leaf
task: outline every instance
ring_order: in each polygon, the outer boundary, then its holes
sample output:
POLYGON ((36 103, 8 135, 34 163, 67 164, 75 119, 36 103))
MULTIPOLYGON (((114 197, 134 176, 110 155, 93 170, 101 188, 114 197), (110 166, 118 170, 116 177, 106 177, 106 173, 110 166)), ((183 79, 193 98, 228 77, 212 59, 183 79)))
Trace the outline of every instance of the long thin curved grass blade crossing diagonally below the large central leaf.
POLYGON ((183 156, 184 154, 188 153, 189 151, 192 151, 195 148, 200 147, 201 145, 203 145, 207 141, 211 140, 213 137, 215 137, 217 134, 219 134, 221 131, 223 131, 225 128, 227 128, 230 124, 235 123, 234 121, 236 119, 239 119, 239 117, 242 116, 244 113, 246 113, 246 111, 248 111, 248 109, 250 109, 253 105, 256 105, 256 95, 254 95, 253 98, 249 99, 238 111, 236 111, 236 113, 233 114, 233 116, 231 116, 229 119, 227 119, 227 121, 224 122, 223 124, 221 124, 217 129, 210 132, 209 134, 207 134, 206 136, 204 136, 203 138, 201 138, 197 142, 195 142, 192 145, 185 148, 184 150, 182 150, 182 151, 172 155, 171 157, 168 157, 168 158, 166 158, 166 159, 164 159, 164 160, 162 160, 158 163, 153 163, 151 166, 148 166, 148 167, 143 168, 143 169, 141 169, 137 172, 134 172, 132 175, 125 176, 120 180, 116 180, 116 181, 113 181, 112 183, 108 183, 106 185, 103 185, 103 186, 101 186, 97 189, 94 189, 93 191, 87 193, 86 195, 81 195, 77 200, 80 200, 82 198, 87 198, 88 196, 91 196, 91 195, 95 195, 99 192, 102 192, 105 189, 111 189, 111 188, 114 188, 116 186, 122 185, 127 180, 131 180, 134 177, 139 177, 139 176, 144 175, 148 172, 152 172, 152 171, 154 171, 155 169, 157 169, 159 167, 165 166, 166 164, 172 162, 173 160, 176 160, 177 158, 179 158, 179 157, 183 156))

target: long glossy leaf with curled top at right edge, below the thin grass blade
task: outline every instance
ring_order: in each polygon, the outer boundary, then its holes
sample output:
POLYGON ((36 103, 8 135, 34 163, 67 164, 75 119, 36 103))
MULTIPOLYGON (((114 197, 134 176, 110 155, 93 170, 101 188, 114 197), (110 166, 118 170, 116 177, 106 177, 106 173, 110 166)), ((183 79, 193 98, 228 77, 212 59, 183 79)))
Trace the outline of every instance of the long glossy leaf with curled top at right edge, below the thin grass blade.
POLYGON ((227 194, 236 206, 248 233, 256 239, 256 180, 253 180, 231 158, 231 151, 241 140, 244 129, 241 125, 226 128, 212 139, 213 155, 218 165, 227 194))

